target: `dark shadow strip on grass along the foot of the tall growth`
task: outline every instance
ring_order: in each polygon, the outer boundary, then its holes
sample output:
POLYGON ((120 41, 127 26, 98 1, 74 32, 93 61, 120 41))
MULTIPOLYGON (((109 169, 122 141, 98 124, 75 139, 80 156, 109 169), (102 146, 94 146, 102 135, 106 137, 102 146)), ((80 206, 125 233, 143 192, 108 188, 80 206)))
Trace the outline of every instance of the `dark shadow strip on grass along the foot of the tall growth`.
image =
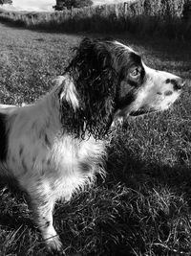
POLYGON ((20 22, 13 23, 11 21, 3 21, 0 20, 0 23, 6 27, 15 28, 17 30, 27 30, 31 32, 41 33, 41 34, 65 34, 65 35, 82 35, 82 36, 90 36, 90 37, 113 37, 114 39, 118 39, 121 42, 135 44, 136 50, 138 48, 144 47, 146 51, 151 51, 152 55, 157 55, 156 57, 165 58, 176 58, 175 60, 186 60, 191 57, 191 47, 190 41, 186 41, 183 38, 168 38, 166 36, 159 35, 149 35, 149 34, 132 34, 131 32, 118 32, 118 31, 110 31, 107 32, 92 32, 92 31, 60 31, 53 29, 41 29, 41 28, 26 28, 24 23, 20 22), (154 50, 154 53, 153 53, 154 50))

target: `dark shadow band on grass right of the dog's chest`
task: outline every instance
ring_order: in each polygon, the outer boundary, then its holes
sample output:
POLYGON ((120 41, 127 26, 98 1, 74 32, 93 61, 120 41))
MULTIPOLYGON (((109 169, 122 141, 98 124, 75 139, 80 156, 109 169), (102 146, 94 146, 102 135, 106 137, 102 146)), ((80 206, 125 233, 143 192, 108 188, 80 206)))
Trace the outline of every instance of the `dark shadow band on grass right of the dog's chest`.
MULTIPOLYGON (((170 166, 159 162, 142 161, 138 154, 134 155, 134 152, 128 150, 123 152, 122 156, 116 157, 114 154, 109 152, 106 182, 122 183, 134 190, 139 190, 144 183, 150 184, 150 189, 160 184, 176 191, 179 196, 191 198, 191 168, 184 162, 181 155, 178 164, 170 166)), ((191 203, 190 200, 188 203, 191 203)))

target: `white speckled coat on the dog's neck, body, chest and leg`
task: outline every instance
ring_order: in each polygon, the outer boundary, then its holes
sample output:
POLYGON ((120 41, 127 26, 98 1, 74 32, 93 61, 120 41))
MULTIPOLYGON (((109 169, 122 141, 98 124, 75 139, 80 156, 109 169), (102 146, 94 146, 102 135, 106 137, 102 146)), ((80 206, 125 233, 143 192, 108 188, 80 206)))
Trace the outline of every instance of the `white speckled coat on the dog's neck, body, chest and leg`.
POLYGON ((53 205, 69 200, 77 189, 91 185, 96 173, 104 175, 105 143, 93 137, 75 138, 63 133, 59 119, 57 90, 68 83, 67 101, 77 105, 68 78, 59 78, 53 92, 35 105, 1 106, 9 131, 7 161, 1 168, 28 192, 34 221, 46 243, 59 250, 53 228, 53 205), (71 91, 72 90, 72 91, 71 91))

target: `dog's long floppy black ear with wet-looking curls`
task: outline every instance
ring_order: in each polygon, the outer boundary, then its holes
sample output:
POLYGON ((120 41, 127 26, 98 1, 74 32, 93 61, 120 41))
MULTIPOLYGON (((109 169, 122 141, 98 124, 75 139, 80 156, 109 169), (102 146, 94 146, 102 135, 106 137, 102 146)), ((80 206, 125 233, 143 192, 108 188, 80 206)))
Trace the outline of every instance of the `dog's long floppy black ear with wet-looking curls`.
POLYGON ((79 96, 82 133, 103 138, 112 124, 117 95, 117 73, 106 42, 83 39, 66 73, 73 78, 79 96))

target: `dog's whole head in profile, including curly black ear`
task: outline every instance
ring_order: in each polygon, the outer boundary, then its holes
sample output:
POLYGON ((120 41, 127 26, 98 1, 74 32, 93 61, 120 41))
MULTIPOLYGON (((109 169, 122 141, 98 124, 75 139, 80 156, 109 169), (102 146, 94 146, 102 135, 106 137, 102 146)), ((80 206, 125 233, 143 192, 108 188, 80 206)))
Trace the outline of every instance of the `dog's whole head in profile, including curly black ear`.
POLYGON ((167 109, 183 85, 179 77, 147 67, 126 45, 89 38, 76 48, 60 83, 62 124, 96 138, 117 118, 167 109))

